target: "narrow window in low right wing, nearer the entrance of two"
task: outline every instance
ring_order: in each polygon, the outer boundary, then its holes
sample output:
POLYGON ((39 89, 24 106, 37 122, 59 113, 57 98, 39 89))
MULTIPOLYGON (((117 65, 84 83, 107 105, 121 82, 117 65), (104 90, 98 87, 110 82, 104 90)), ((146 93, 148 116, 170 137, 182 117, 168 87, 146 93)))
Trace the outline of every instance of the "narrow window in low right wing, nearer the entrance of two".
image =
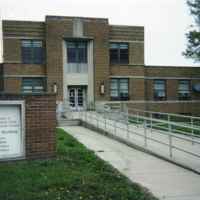
POLYGON ((166 100, 166 82, 165 80, 154 81, 154 100, 166 100))

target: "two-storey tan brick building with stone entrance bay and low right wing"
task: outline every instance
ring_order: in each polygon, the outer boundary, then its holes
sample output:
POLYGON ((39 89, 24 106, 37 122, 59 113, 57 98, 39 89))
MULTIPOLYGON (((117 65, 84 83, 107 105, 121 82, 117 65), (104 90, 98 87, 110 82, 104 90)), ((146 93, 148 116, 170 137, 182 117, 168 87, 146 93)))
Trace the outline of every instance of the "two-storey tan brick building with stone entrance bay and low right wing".
POLYGON ((71 109, 126 101, 161 112, 200 113, 200 67, 146 66, 144 27, 104 18, 3 21, 1 87, 56 92, 71 109))

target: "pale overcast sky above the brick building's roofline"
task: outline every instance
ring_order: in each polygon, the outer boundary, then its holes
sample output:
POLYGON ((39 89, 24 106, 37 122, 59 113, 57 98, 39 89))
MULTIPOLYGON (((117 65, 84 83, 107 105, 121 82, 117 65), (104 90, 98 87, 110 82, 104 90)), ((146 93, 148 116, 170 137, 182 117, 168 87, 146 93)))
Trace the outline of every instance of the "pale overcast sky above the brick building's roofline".
POLYGON ((182 56, 193 23, 186 0, 0 0, 0 15, 32 21, 45 15, 103 17, 110 24, 145 26, 147 65, 199 65, 182 56))

